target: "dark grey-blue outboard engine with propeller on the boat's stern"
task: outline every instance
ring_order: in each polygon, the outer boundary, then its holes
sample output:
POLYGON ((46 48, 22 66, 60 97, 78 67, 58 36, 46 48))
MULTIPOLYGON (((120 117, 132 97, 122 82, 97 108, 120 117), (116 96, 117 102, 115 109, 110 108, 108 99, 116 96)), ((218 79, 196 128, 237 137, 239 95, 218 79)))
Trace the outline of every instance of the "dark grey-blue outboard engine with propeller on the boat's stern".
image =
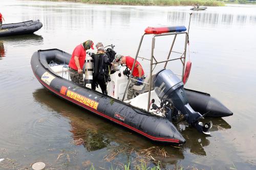
POLYGON ((155 91, 162 102, 170 102, 181 111, 190 125, 194 126, 199 132, 210 134, 209 129, 212 123, 203 125, 202 122, 199 122, 199 118, 203 118, 203 116, 190 107, 183 88, 184 84, 172 70, 160 70, 154 78, 154 85, 155 91))

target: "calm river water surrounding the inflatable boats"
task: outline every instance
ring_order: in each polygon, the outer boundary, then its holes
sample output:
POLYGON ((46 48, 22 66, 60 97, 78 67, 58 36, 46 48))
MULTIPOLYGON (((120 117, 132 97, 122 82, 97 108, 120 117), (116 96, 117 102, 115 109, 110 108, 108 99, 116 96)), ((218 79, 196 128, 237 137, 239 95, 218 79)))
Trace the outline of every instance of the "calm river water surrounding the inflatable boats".
MULTIPOLYGON (((85 169, 91 163, 109 169, 122 168, 128 160, 134 168, 148 148, 166 151, 167 158, 153 157, 167 169, 175 165, 256 169, 255 5, 193 12, 189 31, 193 66, 185 87, 210 93, 233 116, 211 119, 211 136, 186 127, 181 133, 187 142, 180 147, 152 143, 67 103, 44 89, 33 75, 34 52, 59 48, 72 53, 87 39, 114 44, 117 53, 135 56, 146 27, 187 27, 189 8, 1 1, 5 23, 39 19, 43 27, 35 34, 0 38, 0 159, 5 158, 0 169, 24 169, 37 161, 45 162, 48 169, 85 169), (77 145, 79 138, 84 143, 77 145)), ((142 44, 141 56, 150 54, 150 40, 142 44)), ((168 39, 159 40, 156 55, 166 56, 170 44, 168 39)), ((141 63, 147 70, 148 63, 141 63)), ((155 165, 153 159, 148 165, 155 165)))

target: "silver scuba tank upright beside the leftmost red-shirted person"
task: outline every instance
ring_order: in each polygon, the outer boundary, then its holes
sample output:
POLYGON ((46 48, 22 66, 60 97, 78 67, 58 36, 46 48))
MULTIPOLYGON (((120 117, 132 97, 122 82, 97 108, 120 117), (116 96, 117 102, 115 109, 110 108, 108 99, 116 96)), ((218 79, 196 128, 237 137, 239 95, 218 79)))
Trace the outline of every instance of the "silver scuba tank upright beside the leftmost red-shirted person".
POLYGON ((93 83, 93 58, 91 53, 87 53, 86 60, 84 60, 84 85, 93 83))

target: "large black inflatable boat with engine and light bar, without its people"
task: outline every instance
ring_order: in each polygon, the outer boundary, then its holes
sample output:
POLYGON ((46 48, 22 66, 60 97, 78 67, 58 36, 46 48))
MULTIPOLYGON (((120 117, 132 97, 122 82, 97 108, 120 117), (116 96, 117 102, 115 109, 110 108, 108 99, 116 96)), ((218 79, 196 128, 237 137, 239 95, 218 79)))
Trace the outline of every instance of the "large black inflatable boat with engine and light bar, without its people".
MULTIPOLYGON (((149 27, 142 35, 134 65, 137 60, 143 37, 152 38, 152 55, 150 56, 150 72, 145 75, 140 86, 134 85, 134 98, 126 98, 127 86, 131 81, 134 66, 128 70, 120 61, 113 61, 108 95, 102 94, 100 88, 91 89, 90 84, 84 86, 73 83, 69 76, 68 64, 71 54, 58 49, 38 50, 32 55, 31 67, 37 80, 52 93, 75 105, 89 110, 101 117, 111 120, 142 136, 157 142, 182 144, 184 137, 180 134, 175 122, 180 119, 195 127, 199 132, 210 134, 212 123, 202 123, 203 117, 225 117, 233 113, 212 98, 209 94, 195 90, 184 89, 189 71, 185 70, 186 44, 188 32, 184 26, 179 27, 149 27), (169 59, 177 36, 185 38, 184 51, 178 58, 169 59), (154 55, 155 37, 175 36, 173 45, 166 60, 157 61, 154 55), (154 60, 154 62, 153 62, 154 60), (180 60, 183 64, 181 79, 170 69, 160 69, 153 74, 153 67, 163 62, 180 60), (185 74, 185 72, 187 74, 185 74), (181 81, 183 80, 183 81, 181 81)), ((84 72, 84 82, 91 82, 93 60, 88 54, 85 60, 87 71, 84 72)), ((190 64, 191 66, 191 64, 190 64)), ((188 66, 189 67, 189 66, 188 66)))

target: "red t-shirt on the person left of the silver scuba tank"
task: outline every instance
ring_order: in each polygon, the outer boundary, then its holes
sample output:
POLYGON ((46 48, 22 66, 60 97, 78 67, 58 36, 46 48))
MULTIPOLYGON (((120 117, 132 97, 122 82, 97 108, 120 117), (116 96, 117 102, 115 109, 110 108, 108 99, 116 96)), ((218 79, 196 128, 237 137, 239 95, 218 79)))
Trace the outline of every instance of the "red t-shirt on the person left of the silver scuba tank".
POLYGON ((75 47, 75 50, 72 53, 72 57, 69 62, 69 66, 75 70, 78 70, 75 63, 75 56, 78 57, 80 68, 82 69, 84 64, 84 59, 86 59, 86 50, 84 50, 82 44, 79 44, 75 47))

